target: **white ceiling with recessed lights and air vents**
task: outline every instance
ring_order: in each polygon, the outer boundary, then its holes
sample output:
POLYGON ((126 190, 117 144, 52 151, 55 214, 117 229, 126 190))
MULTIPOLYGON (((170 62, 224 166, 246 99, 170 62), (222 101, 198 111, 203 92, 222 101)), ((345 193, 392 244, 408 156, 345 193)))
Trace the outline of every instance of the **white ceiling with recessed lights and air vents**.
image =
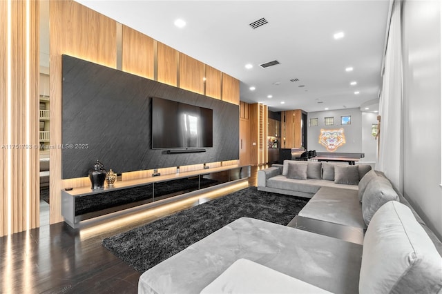
POLYGON ((376 105, 389 0, 77 2, 236 77, 241 101, 273 111, 376 105), (249 26, 262 17, 267 24, 249 26), (176 19, 186 26, 174 26, 176 19), (335 40, 336 32, 345 37, 335 40), (280 64, 259 66, 273 60, 280 64))

